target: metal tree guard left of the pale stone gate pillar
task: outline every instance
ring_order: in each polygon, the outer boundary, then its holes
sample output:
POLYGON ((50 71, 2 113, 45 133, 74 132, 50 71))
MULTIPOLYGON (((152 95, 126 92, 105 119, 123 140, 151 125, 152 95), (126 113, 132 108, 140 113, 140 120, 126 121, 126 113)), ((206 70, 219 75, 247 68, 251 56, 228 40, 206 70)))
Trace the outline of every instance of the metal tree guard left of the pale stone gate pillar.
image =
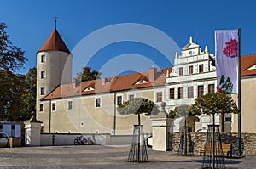
POLYGON ((134 125, 128 161, 148 162, 148 153, 144 138, 143 125, 134 125))

